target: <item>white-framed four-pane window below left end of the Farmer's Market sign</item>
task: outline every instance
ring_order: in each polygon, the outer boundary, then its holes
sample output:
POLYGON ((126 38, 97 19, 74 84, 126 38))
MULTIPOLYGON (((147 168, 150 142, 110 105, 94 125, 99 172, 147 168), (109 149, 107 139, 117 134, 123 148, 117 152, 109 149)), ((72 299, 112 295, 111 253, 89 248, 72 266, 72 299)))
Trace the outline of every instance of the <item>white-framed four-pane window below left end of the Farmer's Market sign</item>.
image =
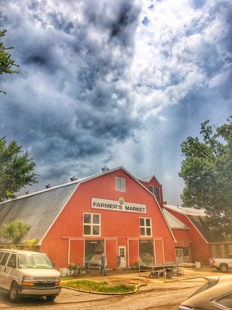
POLYGON ((101 215, 100 214, 84 213, 83 235, 84 236, 100 236, 101 235, 101 215))

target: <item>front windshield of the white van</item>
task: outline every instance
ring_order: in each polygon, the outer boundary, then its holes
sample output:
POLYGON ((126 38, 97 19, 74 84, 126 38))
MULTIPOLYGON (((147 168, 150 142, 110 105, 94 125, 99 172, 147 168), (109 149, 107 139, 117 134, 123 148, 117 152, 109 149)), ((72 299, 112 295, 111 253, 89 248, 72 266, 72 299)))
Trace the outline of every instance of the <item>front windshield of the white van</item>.
POLYGON ((49 258, 43 254, 19 254, 19 268, 53 268, 49 258))

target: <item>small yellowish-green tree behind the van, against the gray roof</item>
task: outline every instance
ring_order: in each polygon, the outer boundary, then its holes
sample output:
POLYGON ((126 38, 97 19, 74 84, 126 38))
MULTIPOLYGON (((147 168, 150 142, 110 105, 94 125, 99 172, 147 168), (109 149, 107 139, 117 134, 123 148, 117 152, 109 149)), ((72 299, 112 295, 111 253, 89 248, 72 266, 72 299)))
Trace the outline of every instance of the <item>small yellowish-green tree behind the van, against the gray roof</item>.
POLYGON ((24 223, 22 219, 16 219, 13 222, 3 224, 0 234, 5 239, 5 244, 7 241, 11 241, 16 247, 19 240, 28 233, 29 229, 30 226, 24 223))

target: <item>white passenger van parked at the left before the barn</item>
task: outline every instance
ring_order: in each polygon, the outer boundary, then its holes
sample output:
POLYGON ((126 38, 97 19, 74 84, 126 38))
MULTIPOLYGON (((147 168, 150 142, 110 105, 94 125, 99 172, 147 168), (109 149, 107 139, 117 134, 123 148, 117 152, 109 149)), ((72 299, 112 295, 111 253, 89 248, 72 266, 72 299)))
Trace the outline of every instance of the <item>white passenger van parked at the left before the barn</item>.
POLYGON ((46 254, 0 249, 0 289, 10 293, 12 302, 20 295, 54 300, 61 291, 60 273, 46 254))

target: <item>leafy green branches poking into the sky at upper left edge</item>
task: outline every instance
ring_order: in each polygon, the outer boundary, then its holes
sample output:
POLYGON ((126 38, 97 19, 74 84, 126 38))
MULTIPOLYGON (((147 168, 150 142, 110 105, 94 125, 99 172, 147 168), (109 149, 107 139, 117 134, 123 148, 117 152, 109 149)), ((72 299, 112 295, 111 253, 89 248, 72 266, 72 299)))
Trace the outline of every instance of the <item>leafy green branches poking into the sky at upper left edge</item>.
MULTIPOLYGON (((0 38, 3 37, 6 34, 6 30, 0 31, 0 38)), ((13 49, 14 47, 7 47, 4 45, 3 42, 0 42, 0 74, 8 73, 18 73, 18 71, 12 70, 12 67, 19 67, 18 64, 15 63, 15 61, 11 58, 11 54, 9 54, 7 51, 9 49, 13 49)), ((4 91, 0 90, 0 93, 6 94, 4 91)))

